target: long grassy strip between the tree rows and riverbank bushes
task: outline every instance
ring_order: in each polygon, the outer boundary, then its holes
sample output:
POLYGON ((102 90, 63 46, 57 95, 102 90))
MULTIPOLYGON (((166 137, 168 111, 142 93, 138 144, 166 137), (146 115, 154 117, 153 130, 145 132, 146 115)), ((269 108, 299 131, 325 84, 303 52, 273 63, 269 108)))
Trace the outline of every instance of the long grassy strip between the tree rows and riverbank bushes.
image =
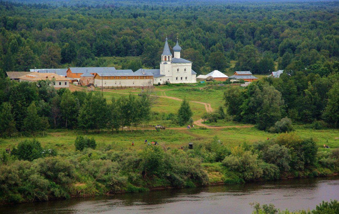
MULTIPOLYGON (((339 137, 338 129, 326 129, 326 130, 314 130, 305 129, 303 127, 296 127, 296 132, 303 138, 312 137, 317 142, 317 146, 322 149, 323 144, 329 145, 332 149, 339 147, 339 140, 335 139, 339 137)), ((80 131, 74 130, 49 130, 45 136, 37 136, 43 147, 56 148, 59 153, 68 151, 74 151, 74 141, 78 135, 84 135, 80 131)), ((113 134, 109 131, 101 132, 100 134, 87 134, 87 137, 94 137, 98 144, 98 149, 103 149, 107 146, 113 146, 114 149, 142 149, 147 139, 148 142, 158 141, 163 147, 180 148, 180 146, 187 146, 189 142, 205 143, 211 142, 214 136, 218 136, 218 139, 223 145, 228 148, 232 148, 242 143, 252 144, 257 141, 265 141, 268 138, 273 139, 277 134, 267 133, 259 131, 254 127, 248 128, 211 128, 211 129, 165 129, 157 132, 155 129, 119 131, 113 134), (134 147, 131 146, 134 141, 134 147)), ((13 148, 20 141, 25 139, 31 139, 31 137, 17 137, 0 139, 0 148, 5 149, 7 147, 13 148)))

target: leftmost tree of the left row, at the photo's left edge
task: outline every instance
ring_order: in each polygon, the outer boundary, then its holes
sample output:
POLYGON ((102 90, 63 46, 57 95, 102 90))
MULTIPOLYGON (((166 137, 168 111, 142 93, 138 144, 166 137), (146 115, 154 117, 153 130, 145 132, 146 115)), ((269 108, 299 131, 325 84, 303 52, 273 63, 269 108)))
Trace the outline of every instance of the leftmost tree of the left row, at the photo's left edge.
POLYGON ((1 105, 0 121, 2 123, 0 126, 0 134, 2 137, 10 137, 17 132, 12 114, 12 105, 8 102, 4 102, 1 105))

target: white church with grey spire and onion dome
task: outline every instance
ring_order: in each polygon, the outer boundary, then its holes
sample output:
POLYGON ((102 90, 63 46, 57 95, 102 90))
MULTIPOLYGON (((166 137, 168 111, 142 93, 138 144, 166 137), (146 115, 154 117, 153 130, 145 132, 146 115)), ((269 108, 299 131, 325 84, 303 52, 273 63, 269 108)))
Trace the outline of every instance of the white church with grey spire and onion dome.
POLYGON ((160 82, 164 84, 166 81, 170 83, 195 83, 197 82, 197 73, 192 70, 192 62, 180 58, 181 47, 177 44, 173 47, 174 57, 169 50, 167 37, 164 50, 161 54, 160 69, 139 69, 139 72, 151 72, 154 76, 154 84, 160 82))

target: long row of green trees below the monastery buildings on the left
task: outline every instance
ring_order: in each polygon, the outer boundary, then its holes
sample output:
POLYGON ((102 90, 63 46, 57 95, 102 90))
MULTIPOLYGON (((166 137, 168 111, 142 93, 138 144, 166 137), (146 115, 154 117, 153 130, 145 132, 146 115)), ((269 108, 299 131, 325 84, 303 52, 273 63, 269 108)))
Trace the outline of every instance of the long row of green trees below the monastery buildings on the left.
POLYGON ((112 97, 110 103, 101 92, 55 90, 50 81, 15 82, 0 80, 1 137, 18 133, 35 135, 48 128, 81 129, 99 133, 125 126, 148 124, 154 100, 135 95, 112 97), (51 86, 52 85, 52 86, 51 86))

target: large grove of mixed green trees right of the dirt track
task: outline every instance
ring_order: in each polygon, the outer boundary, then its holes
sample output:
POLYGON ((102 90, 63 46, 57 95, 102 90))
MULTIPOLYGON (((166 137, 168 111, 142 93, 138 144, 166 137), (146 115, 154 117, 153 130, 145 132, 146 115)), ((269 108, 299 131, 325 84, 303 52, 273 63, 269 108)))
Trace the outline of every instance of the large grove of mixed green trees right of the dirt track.
POLYGON ((256 124, 260 130, 278 133, 291 131, 291 127, 279 128, 282 123, 291 126, 291 120, 312 123, 315 129, 337 128, 339 73, 321 77, 307 74, 303 66, 295 66, 293 70, 293 73, 285 70, 280 78, 267 77, 252 82, 245 90, 227 88, 224 92, 227 114, 234 121, 256 124), (291 119, 290 124, 286 124, 286 119, 291 119))

